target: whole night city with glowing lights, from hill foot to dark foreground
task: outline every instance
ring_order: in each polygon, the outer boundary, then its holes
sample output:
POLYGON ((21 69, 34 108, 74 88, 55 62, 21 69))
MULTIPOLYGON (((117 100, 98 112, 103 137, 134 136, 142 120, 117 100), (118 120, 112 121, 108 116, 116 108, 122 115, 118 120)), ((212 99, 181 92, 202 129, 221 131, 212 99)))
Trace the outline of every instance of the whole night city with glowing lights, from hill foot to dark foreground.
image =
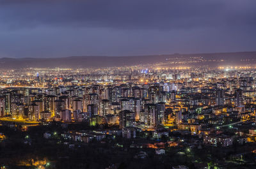
POLYGON ((253 168, 256 64, 214 58, 2 68, 0 167, 253 168))

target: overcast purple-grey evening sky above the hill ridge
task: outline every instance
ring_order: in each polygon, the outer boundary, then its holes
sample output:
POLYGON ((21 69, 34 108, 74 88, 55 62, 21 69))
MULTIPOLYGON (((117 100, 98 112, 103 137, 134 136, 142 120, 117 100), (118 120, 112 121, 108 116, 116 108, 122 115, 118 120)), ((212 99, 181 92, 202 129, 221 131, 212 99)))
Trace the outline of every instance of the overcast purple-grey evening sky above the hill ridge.
POLYGON ((0 57, 255 50, 255 0, 0 0, 0 57))

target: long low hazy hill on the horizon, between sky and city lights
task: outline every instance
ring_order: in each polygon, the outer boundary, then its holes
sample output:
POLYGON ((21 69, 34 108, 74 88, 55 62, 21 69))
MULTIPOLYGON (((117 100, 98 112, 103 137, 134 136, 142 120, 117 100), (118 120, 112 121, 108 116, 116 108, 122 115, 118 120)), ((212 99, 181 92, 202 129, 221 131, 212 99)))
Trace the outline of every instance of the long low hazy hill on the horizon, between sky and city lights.
MULTIPOLYGON (((204 62, 189 63, 189 65, 218 64, 256 64, 256 52, 230 52, 212 54, 170 54, 141 56, 71 56, 54 58, 1 58, 0 68, 102 68, 112 66, 132 66, 139 64, 166 63, 170 61, 195 60, 202 57, 204 62), (241 61, 242 59, 242 61, 241 61), (247 59, 247 60, 246 60, 247 59), (222 60, 211 61, 211 60, 222 60), (210 62, 211 61, 211 62, 210 62)), ((178 64, 176 64, 178 65, 178 64)))

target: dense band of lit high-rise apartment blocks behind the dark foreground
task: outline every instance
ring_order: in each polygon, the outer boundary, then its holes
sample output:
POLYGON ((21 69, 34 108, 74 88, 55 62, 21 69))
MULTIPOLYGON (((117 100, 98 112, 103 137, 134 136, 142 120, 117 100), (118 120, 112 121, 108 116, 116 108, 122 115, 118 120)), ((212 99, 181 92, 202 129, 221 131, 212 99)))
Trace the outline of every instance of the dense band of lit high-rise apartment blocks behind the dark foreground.
MULTIPOLYGON (((0 117, 108 124, 119 126, 125 138, 136 138, 138 129, 153 131, 153 137, 160 138, 165 135, 161 129, 169 128, 189 131, 204 138, 205 144, 223 146, 232 145, 238 138, 227 135, 223 128, 231 130, 235 125, 255 122, 256 74, 252 69, 129 69, 119 73, 109 70, 111 76, 125 75, 126 80, 105 79, 108 83, 92 79, 80 79, 86 82, 84 85, 55 83, 70 82, 70 75, 65 74, 67 77, 54 78, 51 87, 4 86, 0 89, 0 117)), ((42 79, 39 73, 34 78, 37 82, 42 79)), ((239 142, 248 142, 241 133, 255 135, 236 129, 239 142)))

